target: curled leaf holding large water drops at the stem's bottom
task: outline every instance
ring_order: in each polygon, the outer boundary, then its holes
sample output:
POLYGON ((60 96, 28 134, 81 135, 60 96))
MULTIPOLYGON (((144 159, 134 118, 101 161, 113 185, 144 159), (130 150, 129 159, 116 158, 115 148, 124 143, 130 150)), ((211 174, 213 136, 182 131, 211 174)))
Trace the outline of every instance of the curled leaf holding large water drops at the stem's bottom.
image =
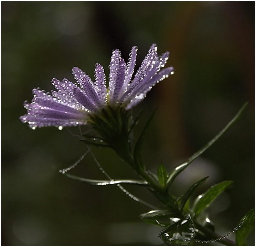
POLYGON ((159 236, 167 245, 189 245, 194 239, 194 232, 194 223, 187 215, 185 220, 179 220, 162 230, 159 236))

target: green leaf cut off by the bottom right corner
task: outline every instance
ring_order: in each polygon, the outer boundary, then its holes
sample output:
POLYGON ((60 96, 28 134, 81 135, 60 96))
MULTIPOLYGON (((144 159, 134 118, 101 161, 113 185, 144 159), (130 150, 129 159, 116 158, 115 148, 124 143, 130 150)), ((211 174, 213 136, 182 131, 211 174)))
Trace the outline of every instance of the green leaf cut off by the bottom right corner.
POLYGON ((254 230, 254 208, 251 209, 244 218, 242 218, 237 225, 238 230, 236 233, 236 244, 246 245, 246 237, 254 230))

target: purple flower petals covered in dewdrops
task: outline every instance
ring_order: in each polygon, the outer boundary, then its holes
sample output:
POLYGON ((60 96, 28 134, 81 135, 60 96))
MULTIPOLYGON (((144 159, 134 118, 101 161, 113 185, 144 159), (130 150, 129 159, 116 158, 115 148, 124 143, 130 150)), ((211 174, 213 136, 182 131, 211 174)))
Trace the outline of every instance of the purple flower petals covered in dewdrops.
POLYGON ((67 79, 52 79, 57 89, 47 93, 34 88, 31 103, 25 101, 27 115, 20 117, 32 129, 36 127, 84 125, 89 120, 89 113, 97 114, 106 106, 113 109, 123 107, 126 110, 137 105, 155 83, 173 74, 173 67, 162 69, 168 59, 169 52, 158 56, 157 47, 153 44, 140 68, 131 80, 134 72, 138 48, 133 46, 128 64, 121 58, 119 50, 114 50, 110 62, 109 86, 100 64, 96 64, 95 81, 93 82, 80 68, 73 68, 73 75, 79 83, 67 79))

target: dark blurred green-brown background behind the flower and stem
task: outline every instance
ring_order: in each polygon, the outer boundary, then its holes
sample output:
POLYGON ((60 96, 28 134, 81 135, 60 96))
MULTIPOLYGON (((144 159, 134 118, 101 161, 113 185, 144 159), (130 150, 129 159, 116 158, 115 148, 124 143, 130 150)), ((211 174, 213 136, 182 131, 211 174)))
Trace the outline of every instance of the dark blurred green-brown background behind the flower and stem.
MULTIPOLYGON (((254 2, 2 2, 2 245, 161 243, 161 227, 139 219, 151 210, 146 205, 117 186, 59 174, 86 152, 70 133, 78 128, 31 130, 19 120, 34 87, 53 90, 53 77, 74 82, 73 66, 93 78, 96 63, 108 78, 117 48, 128 61, 138 46, 138 68, 153 43, 159 54, 170 51, 167 66, 175 74, 133 110, 145 109, 136 138, 158 108, 143 147, 147 168, 156 171, 163 162, 174 169, 248 101, 239 121, 177 177, 172 192, 179 196, 204 176, 209 179, 194 197, 234 181, 208 209, 221 235, 254 207, 254 2)), ((114 152, 92 150, 112 178, 136 178, 114 152)), ((70 173, 106 179, 89 154, 70 173)), ((125 188, 159 205, 145 188, 125 188)), ((253 236, 248 243, 254 245, 253 236)))

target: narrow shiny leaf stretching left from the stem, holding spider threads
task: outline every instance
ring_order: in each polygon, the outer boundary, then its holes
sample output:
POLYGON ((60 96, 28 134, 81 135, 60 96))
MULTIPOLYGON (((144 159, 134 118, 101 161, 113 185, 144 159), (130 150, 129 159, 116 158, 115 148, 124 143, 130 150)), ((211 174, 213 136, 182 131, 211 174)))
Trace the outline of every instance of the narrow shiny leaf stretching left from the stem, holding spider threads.
POLYGON ((70 179, 74 179, 76 181, 82 182, 82 183, 89 183, 91 185, 113 185, 118 183, 130 183, 130 184, 136 184, 141 186, 148 186, 148 183, 146 181, 140 181, 140 180, 132 180, 132 179, 116 179, 116 180, 94 180, 94 179, 84 179, 78 176, 74 176, 68 173, 65 173, 67 177, 70 179))

